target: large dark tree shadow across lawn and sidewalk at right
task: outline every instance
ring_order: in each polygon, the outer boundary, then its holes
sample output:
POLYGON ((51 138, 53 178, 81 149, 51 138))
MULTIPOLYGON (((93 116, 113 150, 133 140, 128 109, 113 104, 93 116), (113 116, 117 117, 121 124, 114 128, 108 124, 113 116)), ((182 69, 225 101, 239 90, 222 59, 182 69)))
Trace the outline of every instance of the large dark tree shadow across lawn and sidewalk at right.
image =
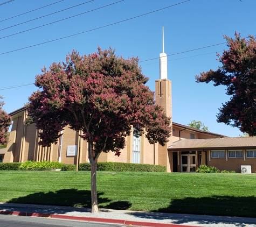
MULTIPOLYGON (((152 210, 154 213, 147 213, 143 215, 149 219, 170 219, 172 224, 184 224, 188 221, 197 221, 198 224, 229 224, 233 223, 237 226, 246 226, 248 223, 255 224, 256 217, 256 197, 234 197, 234 196, 217 196, 211 197, 187 197, 184 199, 174 199, 166 208, 152 210), (165 214, 163 214, 165 213, 165 214), (166 214, 172 213, 172 214, 166 214), (193 214, 200 216, 193 216, 190 219, 188 215, 193 214), (203 216, 202 215, 209 215, 203 216), (210 216, 211 215, 211 216, 210 216), (215 216, 229 216, 217 218, 215 216), (253 217, 250 218, 230 218, 230 217, 253 217)), ((141 217, 142 214, 135 212, 134 216, 141 217)))

